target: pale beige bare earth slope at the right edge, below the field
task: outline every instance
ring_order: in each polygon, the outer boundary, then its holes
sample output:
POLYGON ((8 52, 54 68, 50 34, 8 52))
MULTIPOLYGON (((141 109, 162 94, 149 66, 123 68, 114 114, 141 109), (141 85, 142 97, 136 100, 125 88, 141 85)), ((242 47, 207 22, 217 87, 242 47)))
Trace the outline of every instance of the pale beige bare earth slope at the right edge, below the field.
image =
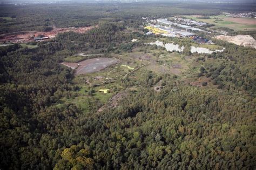
POLYGON ((253 47, 254 49, 256 49, 256 40, 252 36, 249 36, 249 35, 246 35, 246 36, 237 35, 234 37, 221 35, 221 36, 216 36, 214 38, 225 40, 227 42, 234 43, 237 45, 250 46, 250 47, 253 47))

